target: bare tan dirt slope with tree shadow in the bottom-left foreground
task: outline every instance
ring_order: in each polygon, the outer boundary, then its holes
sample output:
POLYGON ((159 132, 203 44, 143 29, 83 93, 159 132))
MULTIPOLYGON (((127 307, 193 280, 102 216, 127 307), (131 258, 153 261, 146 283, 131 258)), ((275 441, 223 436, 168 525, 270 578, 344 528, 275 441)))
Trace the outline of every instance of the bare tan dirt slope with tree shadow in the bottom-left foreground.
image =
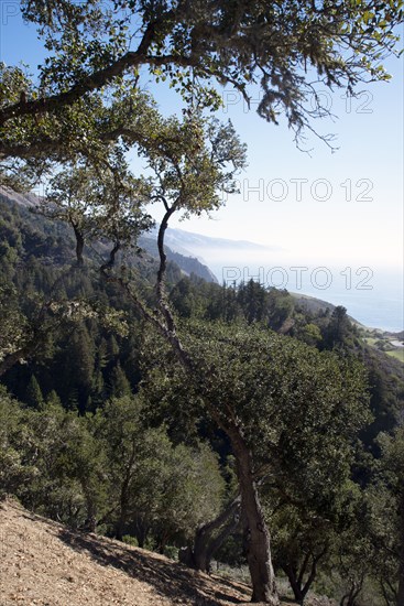
POLYGON ((250 595, 241 583, 0 502, 0 606, 223 606, 250 595))

